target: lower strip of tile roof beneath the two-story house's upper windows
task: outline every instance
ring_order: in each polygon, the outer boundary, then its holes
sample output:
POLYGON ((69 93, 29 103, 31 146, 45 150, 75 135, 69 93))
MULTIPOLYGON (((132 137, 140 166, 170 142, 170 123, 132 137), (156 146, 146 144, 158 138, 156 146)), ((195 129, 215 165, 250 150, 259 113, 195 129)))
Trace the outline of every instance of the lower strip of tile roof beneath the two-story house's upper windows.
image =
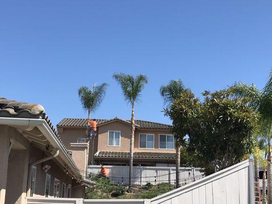
MULTIPOLYGON (((130 158, 130 152, 123 151, 97 151, 94 155, 96 158, 130 158)), ((133 153, 133 158, 137 159, 175 159, 176 153, 168 152, 141 152, 133 153)))

